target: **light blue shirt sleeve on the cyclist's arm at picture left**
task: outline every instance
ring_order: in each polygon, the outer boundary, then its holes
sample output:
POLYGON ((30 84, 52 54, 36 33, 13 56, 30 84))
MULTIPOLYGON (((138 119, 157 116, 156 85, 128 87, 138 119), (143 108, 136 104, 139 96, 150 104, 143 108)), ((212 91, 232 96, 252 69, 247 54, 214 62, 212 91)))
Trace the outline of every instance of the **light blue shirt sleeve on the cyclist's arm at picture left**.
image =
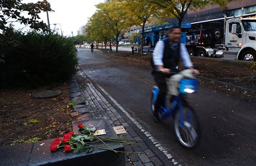
POLYGON ((156 43, 156 47, 153 51, 153 62, 154 65, 162 65, 164 66, 163 63, 163 56, 164 56, 164 42, 159 41, 156 43))

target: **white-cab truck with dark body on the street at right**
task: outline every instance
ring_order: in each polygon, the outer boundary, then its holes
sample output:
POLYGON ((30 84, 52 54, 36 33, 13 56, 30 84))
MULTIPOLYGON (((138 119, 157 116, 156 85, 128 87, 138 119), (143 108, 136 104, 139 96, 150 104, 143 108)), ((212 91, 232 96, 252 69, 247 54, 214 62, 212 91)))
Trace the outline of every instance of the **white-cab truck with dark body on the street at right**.
POLYGON ((191 23, 189 54, 256 61, 256 13, 191 23))

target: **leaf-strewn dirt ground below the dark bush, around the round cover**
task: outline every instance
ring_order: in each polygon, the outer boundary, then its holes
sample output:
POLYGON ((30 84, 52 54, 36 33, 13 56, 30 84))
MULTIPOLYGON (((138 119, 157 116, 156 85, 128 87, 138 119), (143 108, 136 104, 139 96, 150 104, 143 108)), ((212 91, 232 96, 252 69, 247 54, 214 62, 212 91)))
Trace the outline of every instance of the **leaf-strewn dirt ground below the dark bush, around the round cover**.
POLYGON ((61 137, 72 128, 68 103, 67 83, 33 90, 0 90, 1 146, 61 137), (35 92, 56 89, 62 91, 60 96, 46 99, 31 97, 35 92))

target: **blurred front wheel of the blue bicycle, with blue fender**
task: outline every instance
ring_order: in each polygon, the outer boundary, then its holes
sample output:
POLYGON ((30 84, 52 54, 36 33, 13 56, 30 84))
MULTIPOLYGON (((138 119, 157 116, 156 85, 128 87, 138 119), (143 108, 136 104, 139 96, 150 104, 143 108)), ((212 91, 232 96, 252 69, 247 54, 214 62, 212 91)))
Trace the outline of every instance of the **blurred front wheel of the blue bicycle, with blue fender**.
POLYGON ((200 124, 194 109, 184 105, 175 114, 175 135, 185 148, 194 148, 200 139, 200 124))

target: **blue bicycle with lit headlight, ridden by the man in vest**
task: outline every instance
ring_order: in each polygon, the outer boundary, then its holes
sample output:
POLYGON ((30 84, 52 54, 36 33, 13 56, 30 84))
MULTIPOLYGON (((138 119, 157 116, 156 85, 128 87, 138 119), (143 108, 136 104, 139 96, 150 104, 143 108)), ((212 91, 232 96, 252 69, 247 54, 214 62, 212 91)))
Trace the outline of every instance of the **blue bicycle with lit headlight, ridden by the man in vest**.
MULTIPOLYGON (((164 107, 158 111, 160 120, 173 116, 175 135, 185 148, 194 148, 200 139, 200 125, 194 109, 186 99, 187 94, 198 90, 198 80, 182 79, 179 83, 179 95, 174 96, 171 106, 168 106, 168 97, 165 98, 164 107), (169 108, 168 108, 169 107, 169 108)), ((159 94, 158 87, 152 88, 151 108, 154 112, 155 102, 159 94)))

